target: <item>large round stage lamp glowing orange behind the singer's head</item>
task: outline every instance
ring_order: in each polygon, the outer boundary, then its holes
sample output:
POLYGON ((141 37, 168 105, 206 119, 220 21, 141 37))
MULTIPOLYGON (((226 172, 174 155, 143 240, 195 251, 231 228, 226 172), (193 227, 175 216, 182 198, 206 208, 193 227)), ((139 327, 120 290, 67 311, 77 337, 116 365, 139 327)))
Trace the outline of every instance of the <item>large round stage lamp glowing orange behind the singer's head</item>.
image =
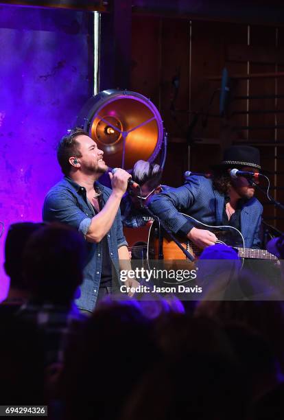
POLYGON ((130 169, 139 159, 154 161, 164 129, 156 106, 130 91, 103 91, 91 97, 78 117, 78 126, 104 150, 110 167, 130 169))

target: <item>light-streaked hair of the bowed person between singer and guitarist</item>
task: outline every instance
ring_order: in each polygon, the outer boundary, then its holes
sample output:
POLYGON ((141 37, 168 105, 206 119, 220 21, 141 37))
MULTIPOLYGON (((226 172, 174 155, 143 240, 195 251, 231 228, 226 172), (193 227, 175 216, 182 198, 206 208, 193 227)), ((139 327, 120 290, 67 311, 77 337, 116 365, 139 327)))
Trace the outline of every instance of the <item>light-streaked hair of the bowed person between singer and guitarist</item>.
POLYGON ((133 167, 132 180, 139 185, 147 184, 148 188, 154 189, 160 185, 163 170, 156 163, 137 161, 133 167))

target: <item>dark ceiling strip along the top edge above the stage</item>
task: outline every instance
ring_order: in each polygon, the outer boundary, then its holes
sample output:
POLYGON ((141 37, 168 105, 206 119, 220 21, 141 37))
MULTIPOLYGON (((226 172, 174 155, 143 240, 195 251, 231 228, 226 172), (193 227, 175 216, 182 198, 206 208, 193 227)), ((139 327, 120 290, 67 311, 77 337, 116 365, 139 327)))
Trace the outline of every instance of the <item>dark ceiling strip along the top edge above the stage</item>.
POLYGON ((180 16, 187 19, 284 24, 283 0, 10 0, 0 4, 30 5, 48 8, 74 8, 111 12, 113 4, 126 5, 133 13, 180 16))

